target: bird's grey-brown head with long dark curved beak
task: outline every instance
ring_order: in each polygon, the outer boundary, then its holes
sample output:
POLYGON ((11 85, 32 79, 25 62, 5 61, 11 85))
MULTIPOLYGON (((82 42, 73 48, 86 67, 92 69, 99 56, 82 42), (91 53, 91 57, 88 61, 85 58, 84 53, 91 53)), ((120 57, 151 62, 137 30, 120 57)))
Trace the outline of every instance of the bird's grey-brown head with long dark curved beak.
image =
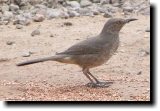
POLYGON ((107 21, 107 23, 104 25, 103 30, 101 33, 119 33, 119 31, 122 29, 122 27, 131 21, 135 21, 137 19, 135 18, 129 18, 129 19, 122 19, 122 18, 112 18, 107 21))

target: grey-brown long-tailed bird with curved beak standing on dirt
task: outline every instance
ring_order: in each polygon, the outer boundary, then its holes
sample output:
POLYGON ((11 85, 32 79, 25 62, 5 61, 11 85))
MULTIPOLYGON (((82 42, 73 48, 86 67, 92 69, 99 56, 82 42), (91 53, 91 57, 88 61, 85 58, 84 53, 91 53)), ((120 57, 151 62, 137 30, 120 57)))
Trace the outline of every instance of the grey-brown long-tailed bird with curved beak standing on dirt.
POLYGON ((24 66, 44 61, 57 61, 67 64, 75 64, 82 68, 83 74, 90 81, 87 86, 103 87, 107 82, 100 82, 91 74, 90 68, 98 67, 106 63, 116 52, 119 47, 119 32, 122 27, 131 22, 138 20, 136 18, 111 18, 109 19, 99 35, 83 40, 63 52, 56 53, 53 56, 28 60, 16 64, 24 66))

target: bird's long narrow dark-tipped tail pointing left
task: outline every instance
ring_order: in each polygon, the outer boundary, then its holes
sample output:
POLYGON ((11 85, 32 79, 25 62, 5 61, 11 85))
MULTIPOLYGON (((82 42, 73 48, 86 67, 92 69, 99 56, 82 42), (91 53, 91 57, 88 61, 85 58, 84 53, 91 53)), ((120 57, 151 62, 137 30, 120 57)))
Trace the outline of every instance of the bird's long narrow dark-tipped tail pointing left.
POLYGON ((18 63, 16 65, 17 66, 24 66, 24 65, 34 64, 34 63, 38 63, 38 62, 49 61, 49 60, 56 61, 57 59, 60 59, 60 58, 62 58, 62 57, 60 57, 60 56, 50 56, 50 57, 28 60, 28 61, 25 61, 25 62, 18 63))

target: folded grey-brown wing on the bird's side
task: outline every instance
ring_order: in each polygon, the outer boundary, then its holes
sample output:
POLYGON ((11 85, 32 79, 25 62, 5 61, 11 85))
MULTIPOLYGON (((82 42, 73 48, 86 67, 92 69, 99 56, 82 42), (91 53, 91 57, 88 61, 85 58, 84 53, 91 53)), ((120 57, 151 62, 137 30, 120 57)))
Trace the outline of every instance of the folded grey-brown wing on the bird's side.
POLYGON ((67 49, 64 52, 57 53, 57 55, 60 54, 66 54, 66 55, 87 55, 87 54, 99 54, 102 52, 102 48, 106 48, 103 44, 97 43, 98 41, 85 41, 81 42, 79 44, 73 45, 69 49, 67 49), (91 42, 91 43, 90 43, 91 42))

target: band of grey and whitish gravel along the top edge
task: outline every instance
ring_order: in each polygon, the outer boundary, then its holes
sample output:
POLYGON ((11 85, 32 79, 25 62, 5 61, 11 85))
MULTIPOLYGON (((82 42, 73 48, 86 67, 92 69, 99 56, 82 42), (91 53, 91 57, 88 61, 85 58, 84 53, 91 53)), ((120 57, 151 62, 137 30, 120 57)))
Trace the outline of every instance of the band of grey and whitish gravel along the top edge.
POLYGON ((140 0, 131 2, 124 0, 13 0, 11 2, 2 1, 0 4, 0 23, 29 25, 31 21, 43 22, 45 19, 81 16, 95 16, 104 14, 104 17, 112 17, 119 10, 121 5, 125 14, 140 13, 150 14, 150 4, 148 1, 140 0), (142 1, 142 2, 141 2, 142 1), (140 2, 140 3, 139 3, 140 2))

